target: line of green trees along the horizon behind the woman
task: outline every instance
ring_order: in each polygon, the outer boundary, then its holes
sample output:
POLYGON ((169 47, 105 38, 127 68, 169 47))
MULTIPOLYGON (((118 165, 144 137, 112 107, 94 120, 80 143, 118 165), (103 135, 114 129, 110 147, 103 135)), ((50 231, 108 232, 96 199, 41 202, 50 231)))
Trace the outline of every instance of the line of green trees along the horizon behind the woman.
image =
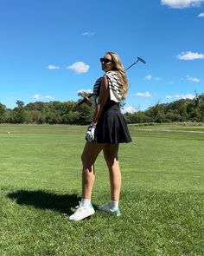
MULTIPOLYGON (((78 101, 79 102, 79 101, 78 101)), ((6 108, 0 102, 0 123, 78 124, 92 121, 93 108, 78 102, 31 102, 17 100, 16 108, 6 108)), ((123 103, 122 108, 125 103, 123 103)), ((144 111, 125 113, 127 123, 196 121, 204 122, 204 94, 194 99, 157 103, 144 111)))

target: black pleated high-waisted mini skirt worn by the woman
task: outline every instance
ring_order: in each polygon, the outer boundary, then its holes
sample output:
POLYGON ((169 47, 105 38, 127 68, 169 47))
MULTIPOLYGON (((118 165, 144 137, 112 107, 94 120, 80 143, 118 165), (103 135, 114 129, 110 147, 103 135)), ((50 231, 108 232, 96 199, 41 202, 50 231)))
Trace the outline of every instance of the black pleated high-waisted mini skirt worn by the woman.
POLYGON ((131 135, 118 103, 110 101, 105 104, 94 137, 93 143, 118 144, 131 142, 131 135))

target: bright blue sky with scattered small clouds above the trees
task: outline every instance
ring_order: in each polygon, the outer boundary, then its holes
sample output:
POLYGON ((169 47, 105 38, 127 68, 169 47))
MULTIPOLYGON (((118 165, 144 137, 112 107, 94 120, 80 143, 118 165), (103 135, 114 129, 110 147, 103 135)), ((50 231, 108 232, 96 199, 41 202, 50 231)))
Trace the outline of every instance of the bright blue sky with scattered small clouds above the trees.
POLYGON ((124 111, 204 93, 204 0, 0 0, 0 102, 76 101, 115 51, 124 111))

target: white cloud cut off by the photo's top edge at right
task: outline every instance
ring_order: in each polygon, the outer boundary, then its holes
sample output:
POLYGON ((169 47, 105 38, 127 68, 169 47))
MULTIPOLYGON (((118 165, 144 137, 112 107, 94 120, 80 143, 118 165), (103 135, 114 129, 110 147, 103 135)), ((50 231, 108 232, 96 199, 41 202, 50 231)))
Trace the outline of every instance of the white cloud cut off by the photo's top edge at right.
POLYGON ((170 8, 182 9, 187 7, 200 6, 204 0, 162 0, 163 5, 168 5, 170 8))

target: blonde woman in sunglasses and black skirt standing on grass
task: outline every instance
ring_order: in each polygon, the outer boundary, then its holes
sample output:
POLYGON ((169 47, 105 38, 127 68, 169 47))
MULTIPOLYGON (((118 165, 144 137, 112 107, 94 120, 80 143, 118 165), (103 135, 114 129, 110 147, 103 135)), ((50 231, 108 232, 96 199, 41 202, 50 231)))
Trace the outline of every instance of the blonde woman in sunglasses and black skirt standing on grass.
MULTIPOLYGON (((93 164, 103 150, 109 170, 111 183, 111 200, 99 206, 100 211, 119 216, 118 208, 121 172, 118 163, 119 143, 131 142, 124 116, 120 112, 119 102, 127 94, 128 83, 119 56, 107 52, 100 58, 105 75, 100 77, 93 88, 95 112, 92 123, 87 129, 86 145, 81 155, 82 170, 82 199, 80 206, 69 217, 69 220, 79 221, 95 213, 92 203, 92 187, 94 184, 93 164)), ((90 105, 88 98, 86 104, 90 105)))

